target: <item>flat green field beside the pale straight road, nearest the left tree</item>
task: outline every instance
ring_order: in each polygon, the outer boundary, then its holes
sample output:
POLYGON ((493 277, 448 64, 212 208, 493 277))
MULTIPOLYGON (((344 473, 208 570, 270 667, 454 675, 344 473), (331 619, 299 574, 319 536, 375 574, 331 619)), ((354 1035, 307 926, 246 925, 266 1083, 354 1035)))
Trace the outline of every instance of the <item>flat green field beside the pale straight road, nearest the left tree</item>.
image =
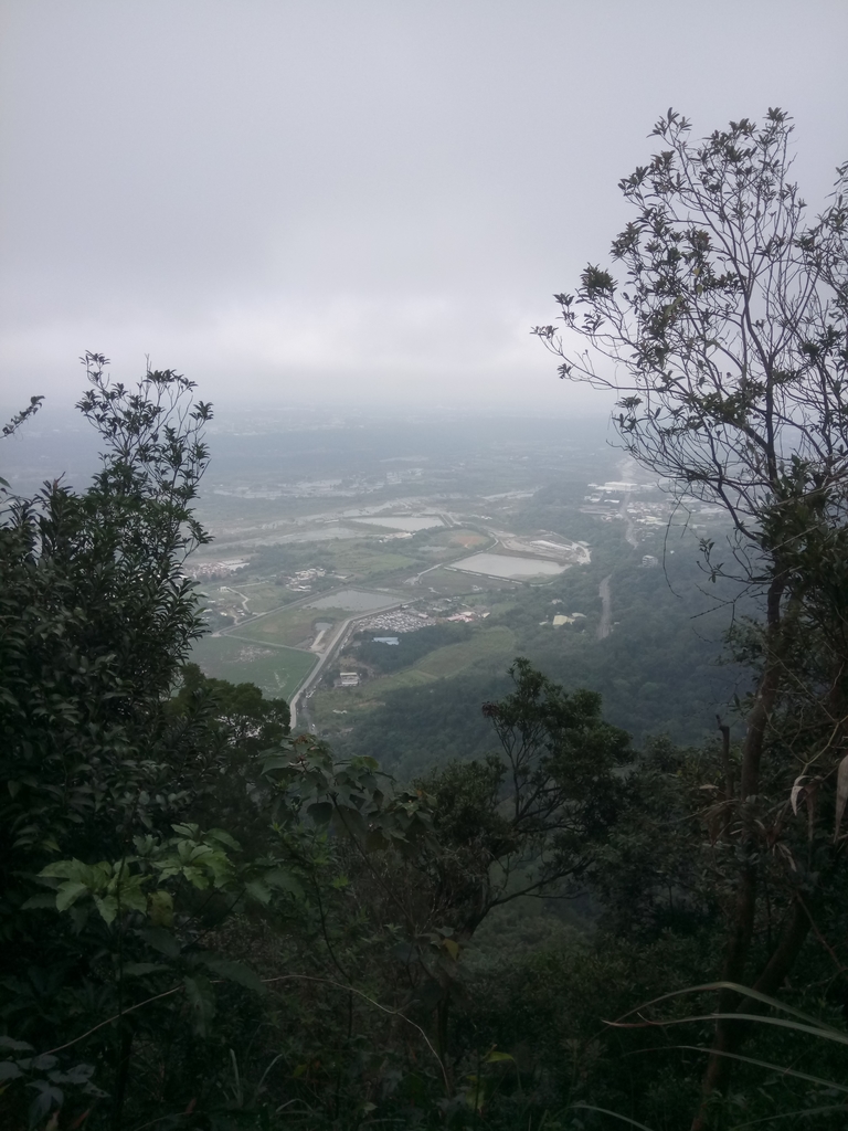
POLYGON ((204 637, 196 641, 190 658, 206 675, 231 683, 256 683, 265 694, 284 699, 292 697, 317 661, 308 651, 262 647, 234 636, 204 637))

